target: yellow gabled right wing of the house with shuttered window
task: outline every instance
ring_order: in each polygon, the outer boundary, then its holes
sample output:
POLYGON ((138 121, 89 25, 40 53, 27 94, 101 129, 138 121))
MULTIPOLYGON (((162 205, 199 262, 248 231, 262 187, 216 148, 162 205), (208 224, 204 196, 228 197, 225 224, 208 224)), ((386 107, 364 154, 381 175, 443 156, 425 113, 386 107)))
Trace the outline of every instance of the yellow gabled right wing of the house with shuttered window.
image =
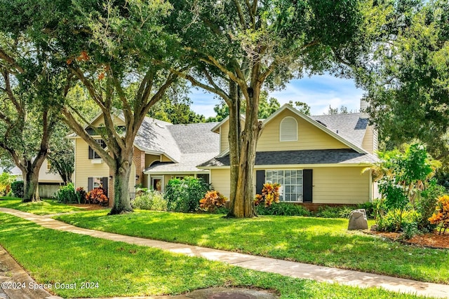
MULTIPOLYGON (((252 182, 281 184, 281 201, 309 209, 357 204, 377 195, 370 171, 377 162, 377 132, 368 116, 349 113, 306 116, 286 104, 263 120, 252 182), (363 173, 362 173, 363 172, 363 173)), ((213 127, 220 134, 220 155, 199 165, 210 171, 216 190, 229 196, 229 120, 213 127)))

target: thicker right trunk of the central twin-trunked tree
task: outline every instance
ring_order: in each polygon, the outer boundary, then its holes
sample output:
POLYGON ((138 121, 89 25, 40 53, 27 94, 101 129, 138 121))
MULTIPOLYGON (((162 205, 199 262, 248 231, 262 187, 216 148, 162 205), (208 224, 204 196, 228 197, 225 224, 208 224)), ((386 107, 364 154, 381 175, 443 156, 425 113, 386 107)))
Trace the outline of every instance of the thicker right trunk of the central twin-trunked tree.
POLYGON ((255 216, 253 171, 255 152, 262 123, 257 115, 259 112, 260 86, 248 89, 246 103, 245 130, 241 133, 241 148, 239 155, 239 174, 236 182, 236 195, 231 205, 229 216, 250 218, 255 216))

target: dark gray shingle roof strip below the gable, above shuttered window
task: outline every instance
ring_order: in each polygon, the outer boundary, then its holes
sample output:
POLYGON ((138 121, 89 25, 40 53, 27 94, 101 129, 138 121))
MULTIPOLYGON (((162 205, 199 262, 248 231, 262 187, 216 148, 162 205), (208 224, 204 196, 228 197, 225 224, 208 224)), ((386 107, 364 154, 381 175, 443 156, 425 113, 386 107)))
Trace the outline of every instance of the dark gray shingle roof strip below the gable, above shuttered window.
MULTIPOLYGON (((361 164, 374 163, 378 159, 369 153, 343 149, 304 150, 304 151, 265 151, 257 152, 255 165, 319 165, 319 164, 361 164)), ((199 167, 229 166, 229 155, 213 158, 199 167)))

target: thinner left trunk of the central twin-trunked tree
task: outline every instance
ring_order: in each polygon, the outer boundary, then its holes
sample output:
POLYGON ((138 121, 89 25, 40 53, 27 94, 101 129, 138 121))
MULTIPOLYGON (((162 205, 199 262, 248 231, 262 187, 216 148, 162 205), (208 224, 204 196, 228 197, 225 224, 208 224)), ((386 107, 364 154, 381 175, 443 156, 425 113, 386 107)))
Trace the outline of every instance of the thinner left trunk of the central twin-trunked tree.
MULTIPOLYGON (((229 97, 232 105, 229 105, 229 167, 230 167, 230 207, 234 210, 234 203, 237 192, 237 181, 239 181, 239 157, 241 148, 241 123, 240 123, 240 106, 241 99, 239 96, 239 88, 235 82, 229 83, 229 97)), ((229 216, 232 216, 230 214, 229 216)))

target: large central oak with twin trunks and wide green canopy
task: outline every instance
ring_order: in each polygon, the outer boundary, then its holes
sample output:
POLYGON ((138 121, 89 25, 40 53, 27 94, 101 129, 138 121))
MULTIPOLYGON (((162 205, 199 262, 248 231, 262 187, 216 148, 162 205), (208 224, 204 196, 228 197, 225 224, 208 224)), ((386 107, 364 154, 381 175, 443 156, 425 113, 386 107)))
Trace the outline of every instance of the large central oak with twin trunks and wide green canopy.
POLYGON ((369 48, 363 17, 376 5, 357 0, 172 3, 172 23, 182 35, 187 59, 196 65, 185 78, 219 95, 229 107, 229 216, 254 216, 251 182, 262 131, 257 117, 262 87, 282 87, 291 78, 325 70, 349 74, 340 66, 355 64, 369 48))

